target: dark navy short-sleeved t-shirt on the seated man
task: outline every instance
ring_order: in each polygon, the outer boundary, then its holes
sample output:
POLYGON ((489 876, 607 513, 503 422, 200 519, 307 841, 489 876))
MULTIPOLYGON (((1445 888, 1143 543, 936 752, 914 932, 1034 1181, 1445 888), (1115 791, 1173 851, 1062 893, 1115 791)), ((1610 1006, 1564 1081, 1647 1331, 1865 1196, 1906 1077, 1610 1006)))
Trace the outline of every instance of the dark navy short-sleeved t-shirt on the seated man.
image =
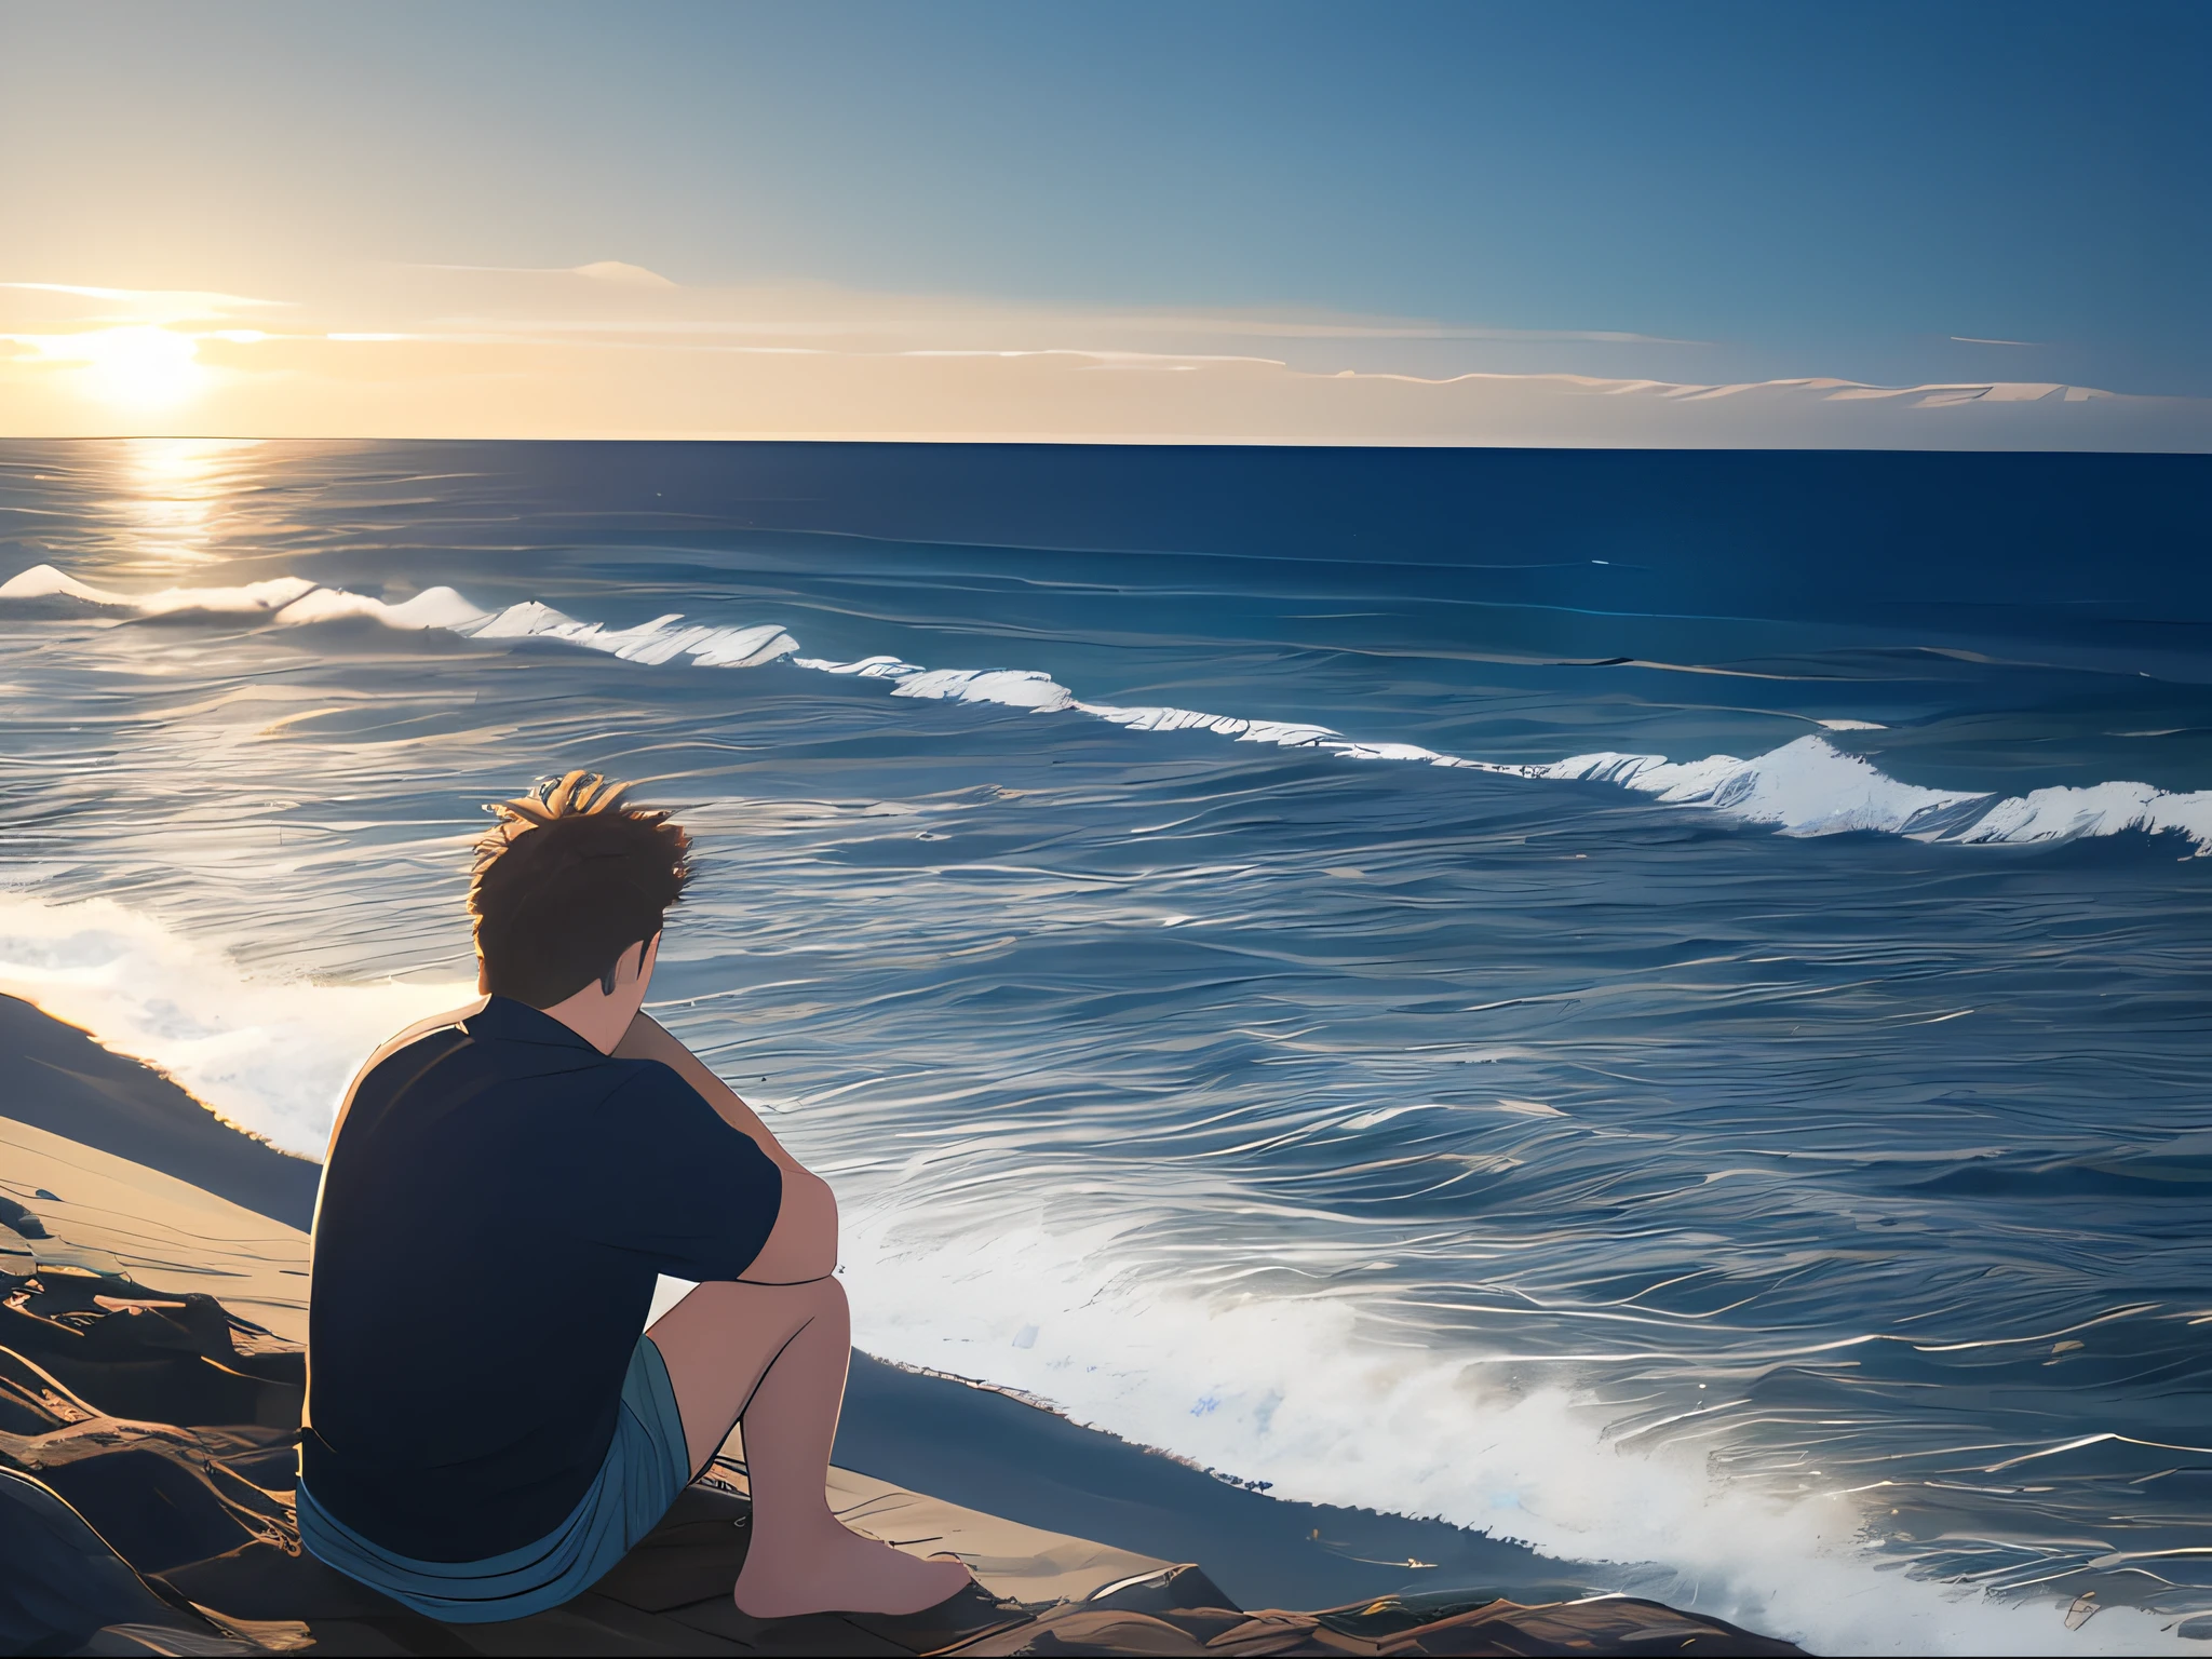
POLYGON ((425 1562, 544 1537, 615 1440, 655 1276, 737 1279, 781 1199, 675 1071, 522 1002, 383 1055, 314 1214, 307 1489, 425 1562))

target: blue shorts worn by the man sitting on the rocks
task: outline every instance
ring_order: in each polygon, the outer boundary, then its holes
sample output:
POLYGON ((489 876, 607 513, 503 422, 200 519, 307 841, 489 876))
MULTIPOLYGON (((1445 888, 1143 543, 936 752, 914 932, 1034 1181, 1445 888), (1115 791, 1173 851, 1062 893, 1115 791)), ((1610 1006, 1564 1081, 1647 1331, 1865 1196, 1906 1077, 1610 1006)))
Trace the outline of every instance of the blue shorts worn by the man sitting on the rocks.
POLYGON ((299 1486, 299 1542, 319 1562, 447 1624, 524 1619, 597 1584, 650 1533, 690 1482, 684 1418, 668 1363, 637 1338, 622 1378, 615 1444, 591 1491, 560 1526, 484 1562, 416 1562, 356 1533, 299 1486))

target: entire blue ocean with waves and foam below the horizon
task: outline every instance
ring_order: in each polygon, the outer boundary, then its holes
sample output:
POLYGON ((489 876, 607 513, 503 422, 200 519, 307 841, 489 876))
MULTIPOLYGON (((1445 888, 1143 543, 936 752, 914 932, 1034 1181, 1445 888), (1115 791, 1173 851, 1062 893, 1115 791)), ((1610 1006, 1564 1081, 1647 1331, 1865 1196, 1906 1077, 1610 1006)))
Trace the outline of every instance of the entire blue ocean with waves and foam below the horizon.
POLYGON ((639 779, 863 1347, 1816 1650, 2194 1650, 2208 531, 2203 458, 9 442, 0 991, 314 1152, 480 805, 639 779))

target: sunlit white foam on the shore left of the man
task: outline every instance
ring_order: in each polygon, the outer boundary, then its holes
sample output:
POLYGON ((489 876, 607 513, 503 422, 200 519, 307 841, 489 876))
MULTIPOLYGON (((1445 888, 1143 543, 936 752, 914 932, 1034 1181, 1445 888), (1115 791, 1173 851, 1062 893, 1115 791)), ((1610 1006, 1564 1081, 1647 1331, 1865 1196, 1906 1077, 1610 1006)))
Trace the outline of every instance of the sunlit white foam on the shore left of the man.
POLYGON ((104 898, 42 905, 15 894, 0 894, 0 991, 307 1157, 323 1155, 338 1099, 376 1044, 476 995, 467 982, 261 980, 104 898))

